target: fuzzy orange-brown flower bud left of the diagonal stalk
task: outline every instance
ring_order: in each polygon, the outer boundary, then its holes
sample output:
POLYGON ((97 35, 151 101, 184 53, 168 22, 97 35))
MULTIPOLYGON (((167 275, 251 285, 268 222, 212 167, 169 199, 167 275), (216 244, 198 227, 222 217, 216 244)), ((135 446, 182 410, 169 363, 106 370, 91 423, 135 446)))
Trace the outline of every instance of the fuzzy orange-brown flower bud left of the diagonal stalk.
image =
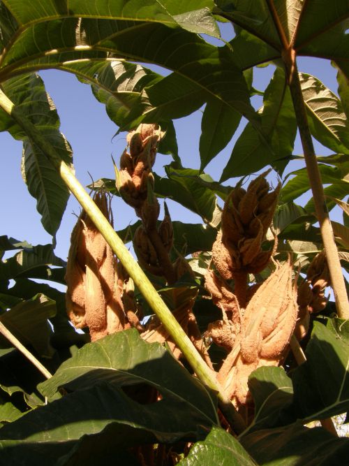
MULTIPOLYGON (((111 222, 105 193, 96 193, 94 201, 111 222)), ((66 308, 76 328, 89 328, 92 341, 129 326, 116 265, 112 249, 83 210, 71 235, 66 308)))

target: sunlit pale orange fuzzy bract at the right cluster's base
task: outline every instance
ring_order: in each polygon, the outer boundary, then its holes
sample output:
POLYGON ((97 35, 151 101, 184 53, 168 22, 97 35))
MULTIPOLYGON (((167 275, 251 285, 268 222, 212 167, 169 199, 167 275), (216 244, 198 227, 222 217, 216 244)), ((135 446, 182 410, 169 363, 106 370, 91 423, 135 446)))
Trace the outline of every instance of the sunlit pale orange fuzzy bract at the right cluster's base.
POLYGON ((235 404, 244 406, 249 374, 262 365, 279 365, 295 329, 297 303, 289 262, 277 265, 240 316, 241 332, 218 372, 218 380, 235 404))

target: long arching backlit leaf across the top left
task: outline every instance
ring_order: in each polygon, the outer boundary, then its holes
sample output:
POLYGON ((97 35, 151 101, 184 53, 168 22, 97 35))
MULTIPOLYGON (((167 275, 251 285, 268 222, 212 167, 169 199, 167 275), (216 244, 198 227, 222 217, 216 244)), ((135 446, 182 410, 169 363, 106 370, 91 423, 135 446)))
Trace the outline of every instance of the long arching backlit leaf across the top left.
MULTIPOLYGON (((12 2, 8 3, 10 8, 15 9, 12 2)), ((121 3, 124 2, 118 2, 115 8, 120 9, 121 3)), ((190 13, 190 5, 184 2, 180 6, 176 2, 170 3, 172 10, 187 10, 186 19, 191 17, 197 24, 196 29, 200 27, 197 14, 190 13)), ((139 9, 138 2, 128 3, 127 17, 122 11, 118 16, 114 8, 109 10, 105 2, 98 1, 91 10, 87 7, 74 8, 69 4, 70 17, 69 13, 60 11, 50 17, 43 13, 42 8, 38 8, 32 22, 22 26, 22 34, 6 49, 2 71, 0 68, 0 80, 8 78, 10 73, 23 73, 26 69, 32 71, 47 66, 57 68, 67 61, 101 59, 110 57, 111 53, 116 58, 148 61, 176 72, 176 75, 164 78, 160 89, 154 88, 156 90, 152 98, 157 100, 158 105, 163 104, 161 89, 172 88, 184 97, 183 103, 192 106, 191 99, 185 99, 185 94, 192 96, 195 88, 195 92, 201 94, 201 100, 205 95, 214 96, 253 119, 254 112, 248 100, 246 82, 230 54, 184 29, 169 29, 164 25, 169 25, 164 17, 164 24, 160 24, 161 15, 154 13, 154 8, 158 6, 158 1, 149 2, 144 14, 145 10, 139 9), (84 17, 82 21, 76 19, 79 12, 84 17), (141 21, 142 16, 147 22, 141 21), (59 17, 64 19, 59 20, 59 17)), ((34 8, 35 4, 31 5, 31 9, 34 8)), ((172 21, 172 26, 174 24, 176 22, 172 21)), ((172 97, 175 101, 175 96, 167 95, 166 99, 171 101, 172 97)), ((187 113, 186 105, 182 106, 187 113)))

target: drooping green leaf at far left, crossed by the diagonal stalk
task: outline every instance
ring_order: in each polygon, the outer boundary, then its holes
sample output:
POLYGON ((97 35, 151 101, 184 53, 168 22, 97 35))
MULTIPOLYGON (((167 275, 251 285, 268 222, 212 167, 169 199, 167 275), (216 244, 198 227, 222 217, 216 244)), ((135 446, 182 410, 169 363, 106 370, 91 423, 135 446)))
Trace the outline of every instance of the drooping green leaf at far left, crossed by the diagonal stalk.
MULTIPOLYGON (((12 78, 2 85, 3 91, 17 105, 17 110, 27 117, 43 136, 50 141, 57 155, 71 162, 71 149, 59 131, 59 117, 50 96, 45 92, 38 75, 12 78)), ((37 209, 48 233, 54 235, 61 223, 69 193, 57 169, 36 145, 32 144, 22 129, 0 110, 0 129, 8 130, 16 139, 23 140, 22 176, 29 192, 37 201, 37 209)))

